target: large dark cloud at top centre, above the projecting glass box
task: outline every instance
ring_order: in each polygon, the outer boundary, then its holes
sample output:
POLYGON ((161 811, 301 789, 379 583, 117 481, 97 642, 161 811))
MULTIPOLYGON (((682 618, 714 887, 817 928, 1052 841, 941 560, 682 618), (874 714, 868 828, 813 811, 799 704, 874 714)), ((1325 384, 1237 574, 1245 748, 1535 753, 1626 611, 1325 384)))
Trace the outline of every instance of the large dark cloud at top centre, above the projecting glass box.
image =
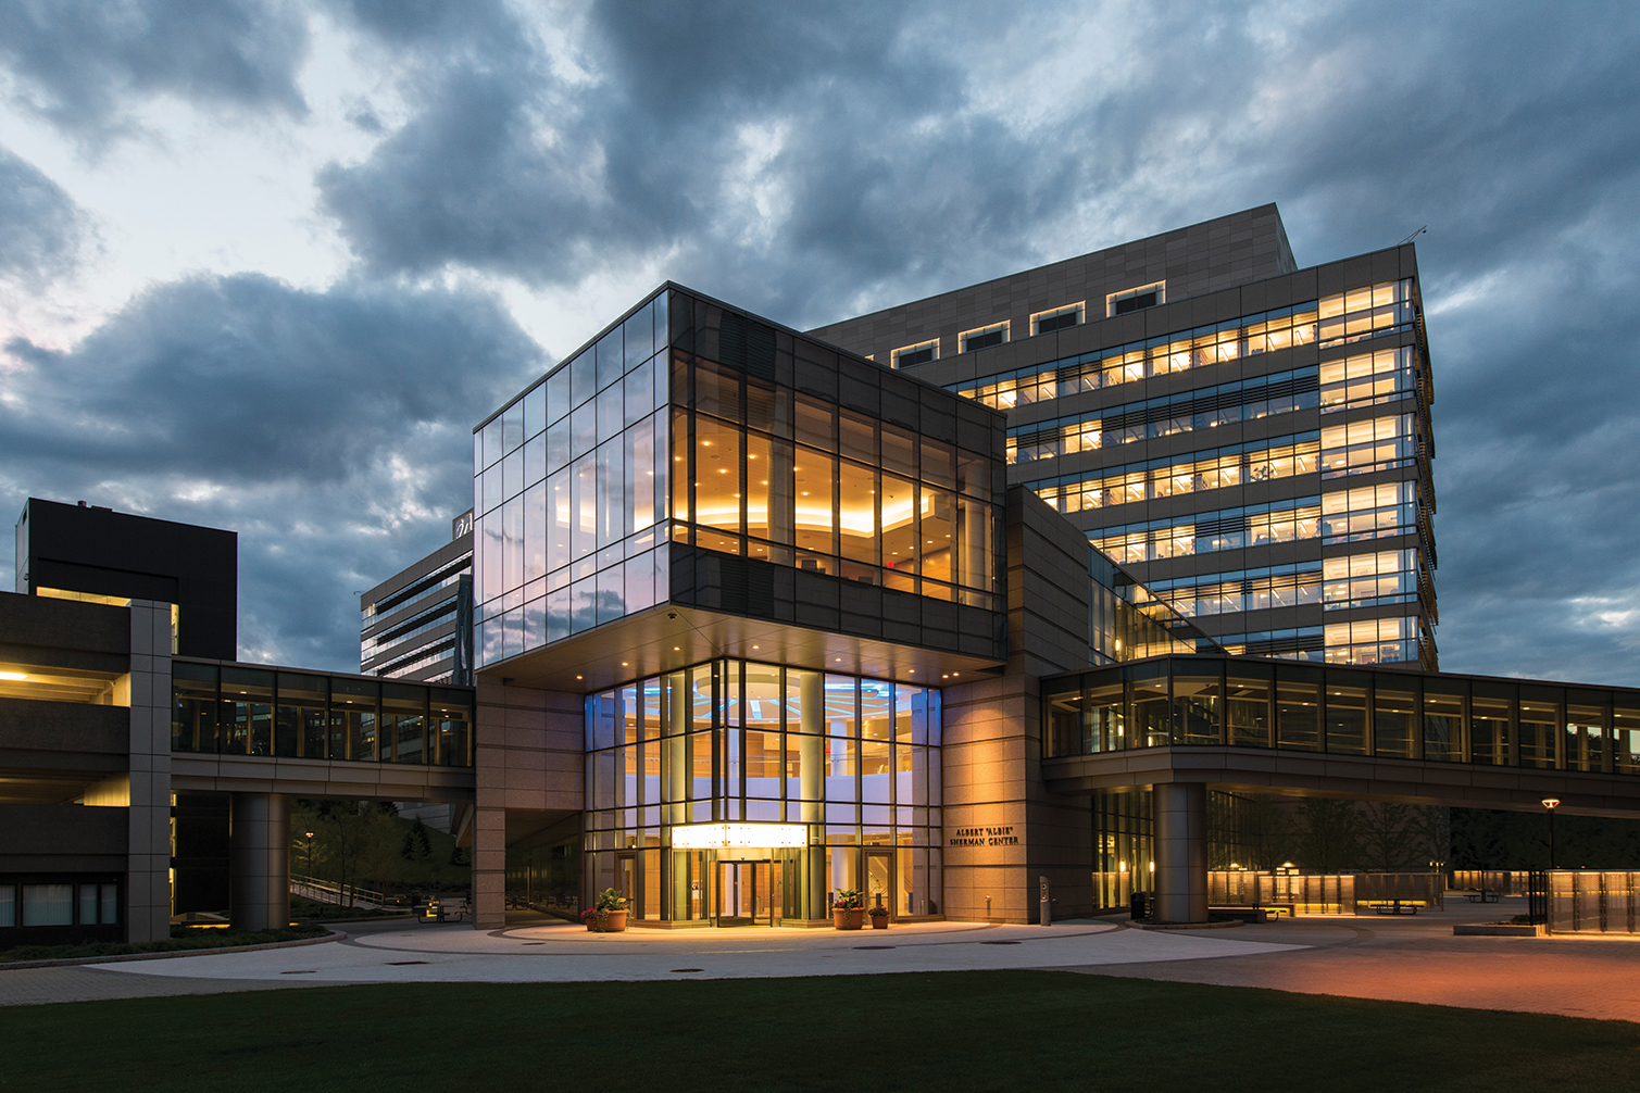
POLYGON ((525 49, 522 28, 497 34, 503 20, 472 29, 503 48, 425 46, 418 113, 362 164, 320 175, 374 269, 572 285, 679 247, 676 275, 769 306, 915 269, 954 236, 1017 252, 1027 218, 1077 175, 994 120, 943 118, 963 105, 963 69, 905 43, 895 8, 597 5, 590 79, 525 49), (917 120, 928 133, 910 131, 917 120), (782 261, 736 243, 754 216, 738 167, 764 123, 786 131, 771 166, 795 210, 782 261))

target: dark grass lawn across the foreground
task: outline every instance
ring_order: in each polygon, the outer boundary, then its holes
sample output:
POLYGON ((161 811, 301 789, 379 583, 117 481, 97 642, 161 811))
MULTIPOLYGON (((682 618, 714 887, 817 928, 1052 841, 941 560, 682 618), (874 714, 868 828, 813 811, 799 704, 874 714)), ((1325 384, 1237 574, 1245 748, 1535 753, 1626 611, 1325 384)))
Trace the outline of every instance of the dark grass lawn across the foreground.
POLYGON ((1640 1026, 1068 972, 0 1011, 0 1090, 1633 1090, 1640 1026))

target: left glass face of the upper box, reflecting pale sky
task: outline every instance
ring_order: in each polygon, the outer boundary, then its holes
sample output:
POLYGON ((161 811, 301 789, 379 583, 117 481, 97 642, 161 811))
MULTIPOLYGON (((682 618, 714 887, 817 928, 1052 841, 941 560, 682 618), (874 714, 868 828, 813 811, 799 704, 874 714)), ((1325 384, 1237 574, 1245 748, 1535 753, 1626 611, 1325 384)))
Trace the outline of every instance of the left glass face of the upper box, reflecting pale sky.
POLYGON ((479 665, 666 600, 666 293, 472 436, 479 665))

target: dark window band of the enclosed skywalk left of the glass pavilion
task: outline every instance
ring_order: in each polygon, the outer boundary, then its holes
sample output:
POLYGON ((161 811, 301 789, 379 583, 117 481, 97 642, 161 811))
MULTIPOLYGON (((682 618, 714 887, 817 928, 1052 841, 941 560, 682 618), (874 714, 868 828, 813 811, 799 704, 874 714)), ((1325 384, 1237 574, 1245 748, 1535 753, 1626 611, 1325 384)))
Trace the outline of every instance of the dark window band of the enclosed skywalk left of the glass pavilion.
POLYGON ((171 751, 472 765, 472 692, 298 672, 171 665, 171 751))

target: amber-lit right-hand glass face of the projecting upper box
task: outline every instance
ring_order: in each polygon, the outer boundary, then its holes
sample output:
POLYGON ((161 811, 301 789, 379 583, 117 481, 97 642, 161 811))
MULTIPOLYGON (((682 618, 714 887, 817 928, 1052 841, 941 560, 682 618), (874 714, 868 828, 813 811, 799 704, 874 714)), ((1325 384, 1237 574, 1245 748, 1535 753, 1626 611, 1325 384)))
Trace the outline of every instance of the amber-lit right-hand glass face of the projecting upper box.
POLYGON ((672 362, 674 541, 995 610, 989 454, 718 364, 695 341, 672 362))

